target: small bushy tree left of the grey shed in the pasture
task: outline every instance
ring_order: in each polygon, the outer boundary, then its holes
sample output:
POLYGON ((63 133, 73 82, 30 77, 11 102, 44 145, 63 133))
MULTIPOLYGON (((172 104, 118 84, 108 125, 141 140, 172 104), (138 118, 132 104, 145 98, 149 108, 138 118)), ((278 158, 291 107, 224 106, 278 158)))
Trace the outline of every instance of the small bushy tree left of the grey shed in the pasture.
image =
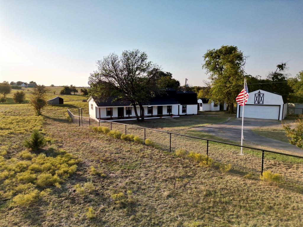
POLYGON ((45 94, 48 89, 44 85, 37 85, 32 91, 29 104, 34 107, 37 115, 41 115, 41 109, 47 105, 45 94))

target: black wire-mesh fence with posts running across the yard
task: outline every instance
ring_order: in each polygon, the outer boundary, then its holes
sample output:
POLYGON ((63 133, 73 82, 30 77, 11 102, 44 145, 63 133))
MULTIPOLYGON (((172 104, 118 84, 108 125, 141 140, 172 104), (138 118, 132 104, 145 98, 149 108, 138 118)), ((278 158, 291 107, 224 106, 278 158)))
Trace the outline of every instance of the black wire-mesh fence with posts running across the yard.
POLYGON ((239 174, 263 174, 266 170, 281 174, 285 179, 303 186, 303 157, 294 154, 280 153, 271 150, 242 146, 245 155, 239 155, 241 145, 223 141, 167 132, 153 128, 145 128, 125 123, 98 120, 82 117, 80 111, 74 115, 69 109, 72 122, 85 127, 108 127, 124 134, 133 134, 143 141, 151 140, 157 147, 168 152, 183 149, 186 152, 205 154, 214 162, 231 164, 233 171, 239 174), (80 114, 79 114, 80 113, 80 114))

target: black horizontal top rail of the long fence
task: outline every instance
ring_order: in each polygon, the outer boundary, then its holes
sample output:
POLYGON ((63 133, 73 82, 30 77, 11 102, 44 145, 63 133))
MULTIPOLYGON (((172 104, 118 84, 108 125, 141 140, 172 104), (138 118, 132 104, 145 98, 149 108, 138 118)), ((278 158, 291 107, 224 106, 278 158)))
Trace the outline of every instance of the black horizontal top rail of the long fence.
MULTIPOLYGON (((67 109, 74 117, 79 117, 77 115, 74 115, 69 109, 67 109)), ((130 125, 130 124, 124 124, 124 123, 119 123, 119 122, 112 122, 112 121, 108 121, 108 120, 99 120, 99 119, 93 119, 90 117, 83 117, 86 119, 92 119, 95 120, 96 122, 107 122, 107 123, 114 123, 114 124, 120 124, 120 125, 127 125, 127 126, 131 126, 131 127, 136 127, 136 128, 142 128, 142 129, 148 129, 148 130, 153 130, 153 131, 158 131, 158 132, 163 132, 163 133, 171 133, 174 135, 178 135, 178 136, 183 136, 183 137, 188 137, 188 138, 193 138, 193 139, 198 139, 198 140, 208 140, 214 143, 223 143, 223 144, 227 144, 227 145, 231 145, 231 146, 238 146, 238 147, 244 147, 244 148, 248 148, 248 149, 252 149, 252 150, 258 150, 258 151, 265 151, 265 152, 269 152, 269 153, 274 153, 274 154, 281 154, 281 155, 286 155, 286 156, 291 156, 291 157, 296 157, 296 158, 302 158, 303 156, 298 156, 298 155, 293 155, 293 154, 287 154, 287 153, 281 153, 281 152, 277 152, 277 151, 272 151, 272 150, 265 150, 265 149, 260 149, 260 148, 255 148, 255 147, 251 147, 251 146, 241 146, 238 144, 233 144, 233 143, 227 143, 227 142, 222 142, 222 141, 218 141, 218 140, 210 140, 210 139, 205 139, 205 138, 201 138, 201 137, 194 137, 194 136, 189 136, 189 135, 184 135, 184 134, 179 134, 179 133, 174 133, 174 132, 167 132, 167 131, 163 131, 163 130, 158 130, 158 129, 153 129, 153 128, 145 128, 145 127, 141 127, 141 126, 137 126, 137 125, 130 125)), ((74 118, 74 120, 77 120, 76 118, 74 118)), ((78 123, 78 122, 77 122, 78 123)))

